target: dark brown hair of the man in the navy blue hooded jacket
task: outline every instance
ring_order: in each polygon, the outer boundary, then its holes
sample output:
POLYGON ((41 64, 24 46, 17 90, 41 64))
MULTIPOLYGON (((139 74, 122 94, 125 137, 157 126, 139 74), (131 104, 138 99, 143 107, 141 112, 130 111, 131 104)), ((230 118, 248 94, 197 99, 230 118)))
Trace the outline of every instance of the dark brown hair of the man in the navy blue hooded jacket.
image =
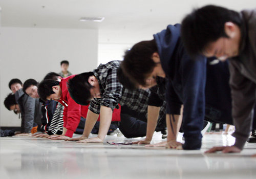
POLYGON ((156 66, 152 59, 153 53, 158 52, 155 40, 136 43, 131 50, 124 54, 121 68, 125 76, 138 84, 145 85, 145 79, 156 66))

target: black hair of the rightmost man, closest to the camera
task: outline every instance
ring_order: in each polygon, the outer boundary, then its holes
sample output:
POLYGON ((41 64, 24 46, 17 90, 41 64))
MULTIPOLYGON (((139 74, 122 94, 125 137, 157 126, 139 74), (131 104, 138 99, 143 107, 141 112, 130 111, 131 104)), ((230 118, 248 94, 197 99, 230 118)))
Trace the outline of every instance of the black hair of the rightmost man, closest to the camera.
POLYGON ((238 12, 219 6, 204 6, 188 14, 181 24, 181 38, 188 54, 195 58, 210 42, 228 37, 224 29, 228 21, 241 26, 238 12))

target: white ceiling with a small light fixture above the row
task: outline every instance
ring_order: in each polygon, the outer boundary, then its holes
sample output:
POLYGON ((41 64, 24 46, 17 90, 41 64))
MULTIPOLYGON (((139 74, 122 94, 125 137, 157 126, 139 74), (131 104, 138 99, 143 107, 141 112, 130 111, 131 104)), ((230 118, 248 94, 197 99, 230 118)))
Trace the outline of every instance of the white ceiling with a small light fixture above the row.
POLYGON ((134 43, 151 39, 168 24, 180 23, 193 8, 207 4, 238 11, 256 8, 255 0, 0 0, 1 26, 98 29, 99 43, 134 43), (105 19, 81 22, 80 17, 105 19))

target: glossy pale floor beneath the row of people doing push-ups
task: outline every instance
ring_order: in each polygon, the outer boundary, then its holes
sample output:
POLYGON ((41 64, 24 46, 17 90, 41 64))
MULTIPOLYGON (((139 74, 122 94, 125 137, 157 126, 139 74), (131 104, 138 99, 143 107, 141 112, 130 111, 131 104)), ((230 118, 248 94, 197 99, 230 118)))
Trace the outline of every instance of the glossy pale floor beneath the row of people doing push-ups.
MULTIPOLYGON (((137 138, 140 139, 140 138, 137 138)), ((132 140, 137 140, 132 139, 132 140)), ((180 136, 181 139, 181 136, 180 136)), ((122 142, 108 136, 106 141, 122 142)), ((153 143, 161 142, 155 133, 153 143)), ((255 178, 256 144, 242 153, 204 154, 231 145, 230 135, 204 135, 201 150, 144 145, 79 144, 32 137, 0 138, 1 178, 255 178)))

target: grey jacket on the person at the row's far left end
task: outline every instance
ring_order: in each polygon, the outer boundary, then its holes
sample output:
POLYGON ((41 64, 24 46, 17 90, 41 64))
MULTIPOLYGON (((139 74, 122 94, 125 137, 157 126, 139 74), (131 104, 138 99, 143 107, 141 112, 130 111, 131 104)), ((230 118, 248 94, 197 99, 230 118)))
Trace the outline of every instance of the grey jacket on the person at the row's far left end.
MULTIPOLYGON (((15 93, 16 102, 19 105, 22 115, 21 132, 30 133, 33 123, 41 118, 39 99, 34 99, 26 95, 22 89, 15 93), (38 108, 38 109, 37 109, 38 108), (34 121, 35 120, 35 121, 34 121)), ((39 123, 40 125, 40 123, 39 123)))

